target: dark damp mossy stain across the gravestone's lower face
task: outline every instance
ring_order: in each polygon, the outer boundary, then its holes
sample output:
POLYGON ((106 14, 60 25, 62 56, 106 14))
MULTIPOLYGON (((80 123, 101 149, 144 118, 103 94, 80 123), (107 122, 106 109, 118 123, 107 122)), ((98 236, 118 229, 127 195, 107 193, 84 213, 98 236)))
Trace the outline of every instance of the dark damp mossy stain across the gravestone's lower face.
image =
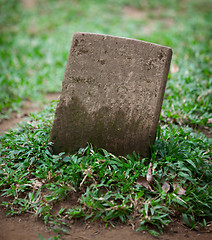
POLYGON ((74 97, 68 104, 61 100, 56 111, 57 118, 50 136, 50 141, 54 143, 55 154, 60 152, 73 154, 79 146, 85 147, 87 143, 105 148, 117 155, 126 155, 133 151, 141 152, 141 149, 148 149, 144 156, 150 154, 149 145, 152 142, 144 143, 142 135, 133 135, 134 132, 139 131, 139 121, 128 123, 122 110, 111 116, 111 110, 102 107, 91 115, 79 98, 74 97))

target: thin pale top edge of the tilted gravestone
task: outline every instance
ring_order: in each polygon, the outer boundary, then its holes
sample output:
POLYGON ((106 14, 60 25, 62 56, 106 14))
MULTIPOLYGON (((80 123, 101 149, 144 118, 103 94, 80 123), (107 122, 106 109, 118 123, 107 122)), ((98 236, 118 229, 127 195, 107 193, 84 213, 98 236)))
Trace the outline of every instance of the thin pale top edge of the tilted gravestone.
POLYGON ((165 48, 167 49, 168 51, 171 52, 172 54, 172 48, 168 47, 168 46, 163 46, 163 45, 160 45, 160 44, 156 44, 156 43, 151 43, 151 42, 147 42, 147 41, 143 41, 143 40, 138 40, 138 39, 134 39, 134 38, 126 38, 126 37, 119 37, 119 36, 113 36, 113 35, 109 35, 109 34, 99 34, 99 33, 89 33, 89 32, 75 32, 74 35, 73 35, 73 38, 74 37, 77 37, 77 36, 83 36, 83 35, 90 35, 90 36, 99 36, 99 37, 107 37, 107 38, 117 38, 117 39, 123 39, 123 40, 129 40, 129 41, 135 41, 135 42, 138 42, 138 43, 145 43, 145 44, 150 44, 150 45, 153 45, 155 47, 160 47, 160 48, 165 48))

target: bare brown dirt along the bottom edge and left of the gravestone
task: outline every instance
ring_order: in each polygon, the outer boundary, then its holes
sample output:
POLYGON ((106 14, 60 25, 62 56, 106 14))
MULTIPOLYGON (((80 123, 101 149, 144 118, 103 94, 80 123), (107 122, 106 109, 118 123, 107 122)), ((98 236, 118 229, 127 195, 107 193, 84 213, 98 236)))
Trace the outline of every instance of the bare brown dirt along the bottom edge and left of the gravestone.
MULTIPOLYGON (((59 98, 58 93, 48 94, 46 101, 56 100, 59 98)), ((15 127, 15 124, 24 121, 24 118, 30 112, 42 110, 44 106, 36 107, 32 102, 26 102, 20 114, 12 113, 11 118, 0 122, 0 134, 7 131, 10 127, 15 127)), ((0 202, 4 198, 1 197, 0 202)), ((68 200, 63 202, 62 205, 69 205, 68 200)), ((57 206, 56 206, 57 207, 57 206)), ((61 206, 58 206, 61 207, 61 206)), ((40 233, 44 239, 56 236, 57 233, 51 231, 40 219, 35 218, 31 214, 22 214, 20 216, 7 216, 7 210, 0 206, 0 240, 39 240, 38 234, 40 233)), ((130 225, 116 224, 115 228, 107 227, 102 223, 95 222, 89 223, 80 221, 69 221, 68 229, 70 235, 62 234, 60 239, 63 240, 209 240, 212 239, 212 233, 197 232, 188 229, 182 222, 176 221, 171 223, 164 229, 164 234, 155 238, 149 233, 136 232, 130 225)))

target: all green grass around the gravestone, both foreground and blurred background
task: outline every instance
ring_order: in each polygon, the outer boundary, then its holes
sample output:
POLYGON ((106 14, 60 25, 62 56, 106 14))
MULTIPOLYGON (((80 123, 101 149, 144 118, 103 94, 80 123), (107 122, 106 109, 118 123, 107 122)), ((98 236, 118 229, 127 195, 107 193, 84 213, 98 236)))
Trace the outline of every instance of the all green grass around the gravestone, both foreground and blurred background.
POLYGON ((211 138, 200 129, 210 135, 212 127, 212 4, 178 2, 37 1, 31 9, 15 0, 0 2, 1 118, 26 99, 61 90, 76 31, 174 50, 151 159, 114 156, 94 146, 52 155, 53 104, 0 138, 0 189, 9 214, 33 213, 59 232, 68 230, 72 218, 130 222, 155 235, 181 216, 190 228, 211 228, 211 138), (72 198, 69 208, 54 211, 72 198))

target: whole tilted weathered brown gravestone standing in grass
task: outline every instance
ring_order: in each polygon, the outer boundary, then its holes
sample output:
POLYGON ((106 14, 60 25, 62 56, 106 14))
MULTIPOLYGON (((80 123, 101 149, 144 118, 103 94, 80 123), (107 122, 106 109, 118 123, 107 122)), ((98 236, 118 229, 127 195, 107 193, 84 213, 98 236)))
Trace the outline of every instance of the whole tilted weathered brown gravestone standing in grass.
POLYGON ((54 153, 93 143, 149 156, 172 50, 134 39, 75 33, 50 141, 54 153))

